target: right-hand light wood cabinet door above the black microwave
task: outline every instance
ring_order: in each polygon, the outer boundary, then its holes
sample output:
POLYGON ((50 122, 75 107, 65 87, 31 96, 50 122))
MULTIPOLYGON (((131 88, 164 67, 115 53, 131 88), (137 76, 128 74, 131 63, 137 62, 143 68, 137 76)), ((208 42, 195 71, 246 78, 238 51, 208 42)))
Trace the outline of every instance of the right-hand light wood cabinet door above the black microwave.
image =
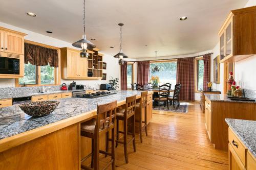
POLYGON ((4 51, 6 53, 24 54, 24 37, 5 32, 4 51))

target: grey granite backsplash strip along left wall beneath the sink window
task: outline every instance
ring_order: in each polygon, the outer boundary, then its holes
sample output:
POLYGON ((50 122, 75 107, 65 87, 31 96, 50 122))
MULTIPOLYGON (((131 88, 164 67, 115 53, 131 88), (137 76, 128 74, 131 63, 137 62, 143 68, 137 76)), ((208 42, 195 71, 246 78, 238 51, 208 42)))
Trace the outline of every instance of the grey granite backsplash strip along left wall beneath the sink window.
MULTIPOLYGON (((38 93, 39 91, 42 91, 43 86, 34 86, 34 87, 4 87, 0 88, 0 95, 1 96, 17 96, 17 95, 23 95, 23 94, 31 94, 31 93, 38 93)), ((50 91, 58 91, 60 90, 60 86, 44 86, 46 87, 46 90, 50 91)))

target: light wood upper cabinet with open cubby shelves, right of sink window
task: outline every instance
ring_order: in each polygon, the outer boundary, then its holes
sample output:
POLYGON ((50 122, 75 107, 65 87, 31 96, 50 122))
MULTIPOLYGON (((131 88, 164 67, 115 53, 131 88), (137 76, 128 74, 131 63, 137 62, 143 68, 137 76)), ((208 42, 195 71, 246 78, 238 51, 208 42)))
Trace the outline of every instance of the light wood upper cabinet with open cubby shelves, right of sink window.
POLYGON ((87 51, 89 58, 81 58, 80 51, 72 48, 61 48, 62 79, 101 79, 102 56, 98 49, 87 51), (100 56, 101 55, 101 56, 100 56))

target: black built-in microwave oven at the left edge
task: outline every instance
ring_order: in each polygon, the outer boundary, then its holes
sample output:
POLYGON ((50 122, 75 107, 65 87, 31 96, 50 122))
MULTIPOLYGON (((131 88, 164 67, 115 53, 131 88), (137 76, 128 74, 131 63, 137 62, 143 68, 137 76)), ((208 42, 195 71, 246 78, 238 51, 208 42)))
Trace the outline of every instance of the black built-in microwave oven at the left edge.
POLYGON ((19 59, 0 57, 0 74, 19 75, 19 59))

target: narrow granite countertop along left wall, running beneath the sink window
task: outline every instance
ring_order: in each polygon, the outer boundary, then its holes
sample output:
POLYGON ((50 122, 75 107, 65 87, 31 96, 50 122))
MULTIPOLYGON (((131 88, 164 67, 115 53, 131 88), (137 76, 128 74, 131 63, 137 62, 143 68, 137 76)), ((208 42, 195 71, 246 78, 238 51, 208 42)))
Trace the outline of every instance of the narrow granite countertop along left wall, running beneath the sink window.
POLYGON ((11 99, 11 98, 23 98, 28 96, 35 96, 35 95, 46 95, 46 94, 55 94, 55 93, 66 93, 66 92, 74 92, 74 91, 85 91, 85 89, 76 89, 76 90, 57 90, 57 91, 49 91, 44 93, 27 93, 27 94, 6 94, 1 95, 0 99, 11 99))

